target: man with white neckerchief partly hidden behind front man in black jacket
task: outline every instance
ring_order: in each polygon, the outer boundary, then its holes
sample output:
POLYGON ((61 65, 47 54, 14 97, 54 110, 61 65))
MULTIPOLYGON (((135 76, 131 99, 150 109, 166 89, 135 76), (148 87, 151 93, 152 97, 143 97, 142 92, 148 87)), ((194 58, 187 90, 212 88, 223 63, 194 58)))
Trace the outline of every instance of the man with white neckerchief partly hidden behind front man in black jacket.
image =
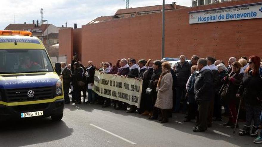
POLYGON ((214 112, 214 102, 215 102, 215 97, 219 98, 219 72, 218 69, 216 67, 215 63, 215 59, 212 57, 207 57, 206 58, 207 62, 208 62, 208 68, 210 70, 212 70, 213 72, 213 94, 210 95, 211 99, 210 99, 210 105, 209 105, 209 111, 208 111, 208 127, 212 127, 212 120, 213 120, 213 112, 214 112))

